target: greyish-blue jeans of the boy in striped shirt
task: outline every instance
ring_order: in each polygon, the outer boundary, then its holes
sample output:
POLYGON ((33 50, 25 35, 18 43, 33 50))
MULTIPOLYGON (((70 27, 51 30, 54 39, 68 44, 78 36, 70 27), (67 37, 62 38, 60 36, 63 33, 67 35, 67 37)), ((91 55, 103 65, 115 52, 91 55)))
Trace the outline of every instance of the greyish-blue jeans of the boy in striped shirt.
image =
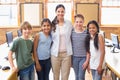
POLYGON ((72 56, 72 66, 75 72, 75 80, 85 80, 85 70, 82 68, 85 60, 86 57, 72 56))

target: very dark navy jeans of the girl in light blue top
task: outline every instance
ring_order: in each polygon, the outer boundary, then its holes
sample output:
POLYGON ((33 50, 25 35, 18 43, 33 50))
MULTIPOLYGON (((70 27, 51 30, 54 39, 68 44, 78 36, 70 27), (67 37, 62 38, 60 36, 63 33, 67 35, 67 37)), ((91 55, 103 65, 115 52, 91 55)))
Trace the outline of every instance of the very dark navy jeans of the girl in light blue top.
POLYGON ((49 80, 49 73, 51 69, 51 60, 39 60, 39 63, 42 67, 41 71, 37 71, 38 80, 49 80))

